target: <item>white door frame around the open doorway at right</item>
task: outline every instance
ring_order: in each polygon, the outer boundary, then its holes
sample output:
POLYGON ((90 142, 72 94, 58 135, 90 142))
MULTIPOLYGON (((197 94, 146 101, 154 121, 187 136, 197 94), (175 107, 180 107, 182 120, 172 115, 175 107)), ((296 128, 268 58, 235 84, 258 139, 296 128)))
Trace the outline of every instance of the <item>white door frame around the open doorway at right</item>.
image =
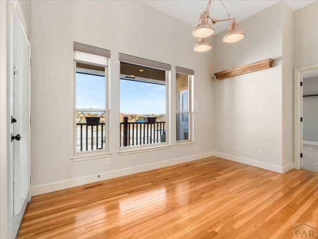
POLYGON ((303 142, 303 135, 302 135, 302 123, 300 118, 303 117, 302 113, 302 103, 303 103, 303 89, 301 88, 301 82, 303 81, 303 72, 308 70, 318 69, 318 65, 306 66, 301 68, 295 69, 295 138, 294 138, 294 148, 295 148, 295 168, 301 168, 301 158, 300 154, 302 153, 302 142, 303 142))

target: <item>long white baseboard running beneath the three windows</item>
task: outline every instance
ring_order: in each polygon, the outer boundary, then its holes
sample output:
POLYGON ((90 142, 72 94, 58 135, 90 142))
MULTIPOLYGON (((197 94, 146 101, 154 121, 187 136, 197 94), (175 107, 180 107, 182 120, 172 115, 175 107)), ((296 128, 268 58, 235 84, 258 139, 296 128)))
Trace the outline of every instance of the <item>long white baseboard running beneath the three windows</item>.
POLYGON ((152 170, 156 168, 166 167, 166 166, 170 166, 170 165, 174 165, 178 163, 193 161, 193 160, 212 157, 212 156, 214 156, 214 152, 207 152, 207 153, 196 154, 196 155, 191 155, 191 156, 186 156, 181 158, 159 161, 159 162, 151 163, 151 164, 144 164, 144 165, 130 167, 130 168, 124 168, 124 169, 119 169, 119 170, 114 170, 114 171, 109 171, 104 173, 98 173, 94 175, 88 175, 84 177, 72 178, 72 179, 48 183, 48 184, 42 184, 42 185, 31 187, 31 194, 32 196, 35 196, 39 194, 50 193, 50 192, 54 192, 54 191, 58 191, 62 189, 77 187, 77 186, 88 184, 88 183, 103 181, 103 180, 107 180, 111 178, 117 178, 117 177, 129 175, 129 174, 144 172, 144 171, 148 171, 148 170, 152 170), (100 176, 98 180, 96 180, 97 175, 100 176))

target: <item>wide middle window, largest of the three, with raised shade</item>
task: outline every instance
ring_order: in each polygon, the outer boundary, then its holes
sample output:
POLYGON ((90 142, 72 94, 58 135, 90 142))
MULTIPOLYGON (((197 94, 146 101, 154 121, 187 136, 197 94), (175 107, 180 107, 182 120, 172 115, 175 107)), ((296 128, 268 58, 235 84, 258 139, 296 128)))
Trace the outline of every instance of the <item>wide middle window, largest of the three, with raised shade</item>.
POLYGON ((120 60, 120 147, 166 143, 170 65, 121 53, 120 60))

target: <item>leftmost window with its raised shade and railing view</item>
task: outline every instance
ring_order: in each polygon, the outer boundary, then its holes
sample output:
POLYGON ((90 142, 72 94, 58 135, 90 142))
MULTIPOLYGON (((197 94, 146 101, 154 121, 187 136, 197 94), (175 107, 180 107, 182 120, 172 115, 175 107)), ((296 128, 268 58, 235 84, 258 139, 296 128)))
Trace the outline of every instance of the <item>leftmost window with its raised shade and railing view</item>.
MULTIPOLYGON (((105 49, 77 44, 79 46, 74 51, 76 68, 75 154, 97 150, 105 151, 109 145, 107 135, 109 125, 108 57, 104 56, 105 49)), ((75 46, 76 43, 74 49, 75 46)))

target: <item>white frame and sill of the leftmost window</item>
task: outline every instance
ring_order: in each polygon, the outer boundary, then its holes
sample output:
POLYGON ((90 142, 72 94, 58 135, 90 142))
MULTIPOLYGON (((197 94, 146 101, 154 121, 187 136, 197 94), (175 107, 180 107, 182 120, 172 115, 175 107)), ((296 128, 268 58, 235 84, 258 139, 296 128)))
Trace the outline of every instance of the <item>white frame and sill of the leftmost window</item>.
MULTIPOLYGON (((76 53, 76 52, 75 52, 76 53)), ((90 58, 92 59, 92 58, 90 58)), ((73 99, 73 156, 71 159, 73 162, 76 161, 83 161, 83 160, 90 160, 90 159, 98 159, 102 157, 107 157, 111 155, 112 153, 110 152, 110 137, 109 137, 109 102, 110 102, 110 91, 109 91, 109 58, 106 58, 107 62, 106 64, 100 65, 95 62, 88 62, 85 61, 86 64, 91 64, 91 65, 99 65, 101 67, 105 68, 105 109, 77 109, 76 108, 76 63, 77 62, 83 62, 79 61, 76 58, 74 58, 74 99, 73 99), (77 151, 77 122, 76 122, 76 117, 77 117, 77 111, 84 111, 84 112, 105 112, 105 148, 103 149, 98 149, 98 150, 90 150, 90 151, 77 151)))

